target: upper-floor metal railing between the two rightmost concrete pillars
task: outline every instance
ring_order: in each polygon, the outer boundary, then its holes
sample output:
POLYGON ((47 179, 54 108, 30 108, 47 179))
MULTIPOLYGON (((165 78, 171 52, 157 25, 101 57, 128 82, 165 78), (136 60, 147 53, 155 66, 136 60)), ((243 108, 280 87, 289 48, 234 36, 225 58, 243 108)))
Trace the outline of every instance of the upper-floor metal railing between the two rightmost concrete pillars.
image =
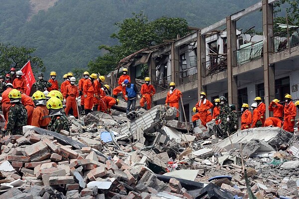
MULTIPOLYGON (((245 44, 246 45, 246 44, 245 44)), ((235 64, 240 66, 253 60, 260 59, 263 56, 263 41, 248 43, 247 46, 234 51, 235 64)))

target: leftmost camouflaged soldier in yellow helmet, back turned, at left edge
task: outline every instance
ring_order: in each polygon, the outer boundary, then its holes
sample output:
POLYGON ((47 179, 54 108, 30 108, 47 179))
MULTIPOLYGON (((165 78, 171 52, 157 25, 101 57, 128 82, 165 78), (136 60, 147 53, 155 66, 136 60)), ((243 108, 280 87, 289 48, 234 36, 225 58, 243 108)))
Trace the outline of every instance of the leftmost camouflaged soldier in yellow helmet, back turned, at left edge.
POLYGON ((8 98, 12 104, 9 113, 6 127, 8 135, 22 135, 22 127, 27 125, 27 110, 21 103, 21 93, 16 89, 12 89, 8 93, 8 98))

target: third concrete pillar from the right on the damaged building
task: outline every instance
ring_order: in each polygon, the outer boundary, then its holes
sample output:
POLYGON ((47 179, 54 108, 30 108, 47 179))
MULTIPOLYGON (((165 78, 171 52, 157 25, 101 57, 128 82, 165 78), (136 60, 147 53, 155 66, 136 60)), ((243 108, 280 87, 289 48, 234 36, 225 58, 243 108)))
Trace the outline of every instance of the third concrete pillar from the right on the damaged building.
POLYGON ((205 35, 201 35, 200 31, 197 31, 197 97, 200 99, 200 91, 205 91, 205 86, 202 85, 202 77, 205 74, 205 66, 202 65, 206 61, 206 49, 205 49, 205 35))

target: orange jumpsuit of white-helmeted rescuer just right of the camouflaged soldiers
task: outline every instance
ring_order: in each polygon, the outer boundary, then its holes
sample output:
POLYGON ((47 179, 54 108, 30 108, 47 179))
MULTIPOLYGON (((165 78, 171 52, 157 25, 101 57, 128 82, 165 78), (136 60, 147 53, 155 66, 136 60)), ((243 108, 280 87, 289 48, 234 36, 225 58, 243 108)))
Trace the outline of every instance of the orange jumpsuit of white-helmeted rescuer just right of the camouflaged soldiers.
POLYGON ((66 99, 66 108, 64 109, 65 114, 68 115, 69 110, 72 108, 75 117, 78 117, 78 107, 76 98, 79 97, 78 87, 69 84, 65 87, 63 93, 64 99, 66 99))

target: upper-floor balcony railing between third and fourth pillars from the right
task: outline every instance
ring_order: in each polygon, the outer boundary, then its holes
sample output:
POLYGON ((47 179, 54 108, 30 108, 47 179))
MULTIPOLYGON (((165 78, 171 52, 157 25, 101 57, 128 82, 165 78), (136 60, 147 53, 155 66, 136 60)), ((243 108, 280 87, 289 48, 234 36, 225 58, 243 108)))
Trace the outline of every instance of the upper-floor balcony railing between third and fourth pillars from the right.
POLYGON ((175 73, 175 83, 182 85, 197 80, 197 66, 192 66, 175 73))

